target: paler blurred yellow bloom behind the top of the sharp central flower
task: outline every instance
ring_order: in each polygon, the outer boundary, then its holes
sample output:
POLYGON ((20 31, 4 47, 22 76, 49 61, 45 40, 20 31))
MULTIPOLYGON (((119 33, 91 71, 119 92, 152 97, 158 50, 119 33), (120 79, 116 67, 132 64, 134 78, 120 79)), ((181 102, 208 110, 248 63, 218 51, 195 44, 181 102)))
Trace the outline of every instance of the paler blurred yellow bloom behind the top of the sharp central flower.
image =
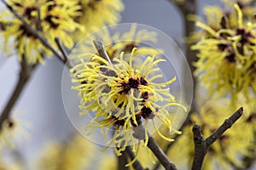
MULTIPOLYGON (((74 48, 72 54, 68 56, 73 63, 80 62, 78 56, 81 54, 96 53, 95 45, 92 43, 95 40, 100 40, 105 45, 106 52, 110 59, 118 56, 121 52, 131 53, 132 48, 137 48, 135 51, 136 54, 143 55, 160 54, 162 51, 161 49, 145 47, 145 44, 157 42, 157 33, 155 31, 142 29, 137 26, 137 24, 122 24, 120 26, 110 26, 110 28, 104 27, 99 31, 93 32, 84 40, 79 42, 79 46, 74 48), (126 29, 125 31, 122 30, 124 27, 126 29), (128 31, 127 28, 130 28, 130 30, 128 31), (111 34, 110 32, 114 33, 111 34)), ((90 58, 90 55, 83 56, 85 61, 90 60, 90 58), (87 57, 87 59, 85 59, 85 57, 87 57)))

